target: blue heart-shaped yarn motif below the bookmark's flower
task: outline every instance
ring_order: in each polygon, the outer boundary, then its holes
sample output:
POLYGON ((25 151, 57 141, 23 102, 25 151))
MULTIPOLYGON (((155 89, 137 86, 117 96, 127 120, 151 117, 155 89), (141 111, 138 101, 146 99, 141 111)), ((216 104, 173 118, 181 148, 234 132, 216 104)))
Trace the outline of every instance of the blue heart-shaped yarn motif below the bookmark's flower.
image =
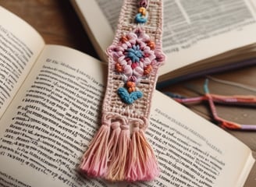
POLYGON ((129 94, 129 92, 124 87, 120 87, 117 90, 117 93, 119 94, 121 100, 126 104, 133 104, 134 101, 143 96, 143 93, 141 91, 134 91, 129 94))

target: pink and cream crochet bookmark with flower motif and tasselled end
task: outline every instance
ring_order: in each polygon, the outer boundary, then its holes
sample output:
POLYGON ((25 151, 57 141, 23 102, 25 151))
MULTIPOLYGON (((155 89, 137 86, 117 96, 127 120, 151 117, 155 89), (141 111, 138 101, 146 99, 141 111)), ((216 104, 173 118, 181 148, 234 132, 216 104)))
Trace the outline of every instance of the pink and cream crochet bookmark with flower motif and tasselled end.
POLYGON ((162 0, 125 0, 107 50, 108 83, 101 127, 80 171, 109 181, 149 181, 158 175, 144 131, 158 67, 163 64, 162 0))

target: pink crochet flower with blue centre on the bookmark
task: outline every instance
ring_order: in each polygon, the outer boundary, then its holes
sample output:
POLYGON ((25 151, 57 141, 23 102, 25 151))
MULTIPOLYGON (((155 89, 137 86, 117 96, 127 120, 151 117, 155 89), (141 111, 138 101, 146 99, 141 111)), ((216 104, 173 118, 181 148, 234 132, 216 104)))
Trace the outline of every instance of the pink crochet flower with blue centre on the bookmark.
POLYGON ((116 72, 122 73, 126 81, 137 82, 165 60, 162 51, 155 49, 150 37, 141 30, 121 37, 117 45, 108 48, 108 54, 116 63, 116 72))

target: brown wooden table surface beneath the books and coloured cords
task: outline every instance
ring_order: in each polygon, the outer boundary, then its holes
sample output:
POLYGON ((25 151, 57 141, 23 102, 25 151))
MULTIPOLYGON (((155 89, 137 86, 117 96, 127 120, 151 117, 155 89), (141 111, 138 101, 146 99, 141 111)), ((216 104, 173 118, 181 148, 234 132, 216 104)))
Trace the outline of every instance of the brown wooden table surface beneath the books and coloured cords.
MULTIPOLYGON (((20 16, 31 26, 34 26, 44 38, 46 44, 62 44, 98 58, 90 39, 87 37, 80 20, 76 16, 76 12, 74 12, 68 0, 0 0, 0 5, 20 16)), ((228 80, 232 83, 239 83, 238 86, 229 86, 210 79, 209 88, 213 94, 255 95, 256 93, 256 65, 211 76, 221 80, 228 80), (241 86, 246 86, 246 88, 241 86), (250 86, 250 89, 247 89, 247 86, 250 86)), ((171 91, 186 97, 194 97, 202 93, 203 83, 203 77, 190 79, 189 81, 169 86, 162 89, 162 91, 171 91)), ((187 107, 204 118, 212 120, 207 103, 190 104, 187 107)), ((218 105, 217 111, 222 118, 227 120, 241 124, 256 124, 255 107, 244 108, 218 105)), ((256 132, 226 131, 247 144, 256 158, 256 132)), ((244 186, 256 186, 255 164, 244 186)))

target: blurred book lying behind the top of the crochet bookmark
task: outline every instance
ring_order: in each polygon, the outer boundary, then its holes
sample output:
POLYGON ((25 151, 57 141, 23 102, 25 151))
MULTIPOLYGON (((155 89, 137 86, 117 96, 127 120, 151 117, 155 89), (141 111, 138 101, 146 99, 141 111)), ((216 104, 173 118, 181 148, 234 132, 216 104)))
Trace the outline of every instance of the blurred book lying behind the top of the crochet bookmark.
MULTIPOLYGON (((99 57, 106 61, 105 50, 112 44, 123 1, 71 2, 99 57)), ((158 83, 256 63, 254 0, 163 2, 162 40, 167 60, 158 83)))

